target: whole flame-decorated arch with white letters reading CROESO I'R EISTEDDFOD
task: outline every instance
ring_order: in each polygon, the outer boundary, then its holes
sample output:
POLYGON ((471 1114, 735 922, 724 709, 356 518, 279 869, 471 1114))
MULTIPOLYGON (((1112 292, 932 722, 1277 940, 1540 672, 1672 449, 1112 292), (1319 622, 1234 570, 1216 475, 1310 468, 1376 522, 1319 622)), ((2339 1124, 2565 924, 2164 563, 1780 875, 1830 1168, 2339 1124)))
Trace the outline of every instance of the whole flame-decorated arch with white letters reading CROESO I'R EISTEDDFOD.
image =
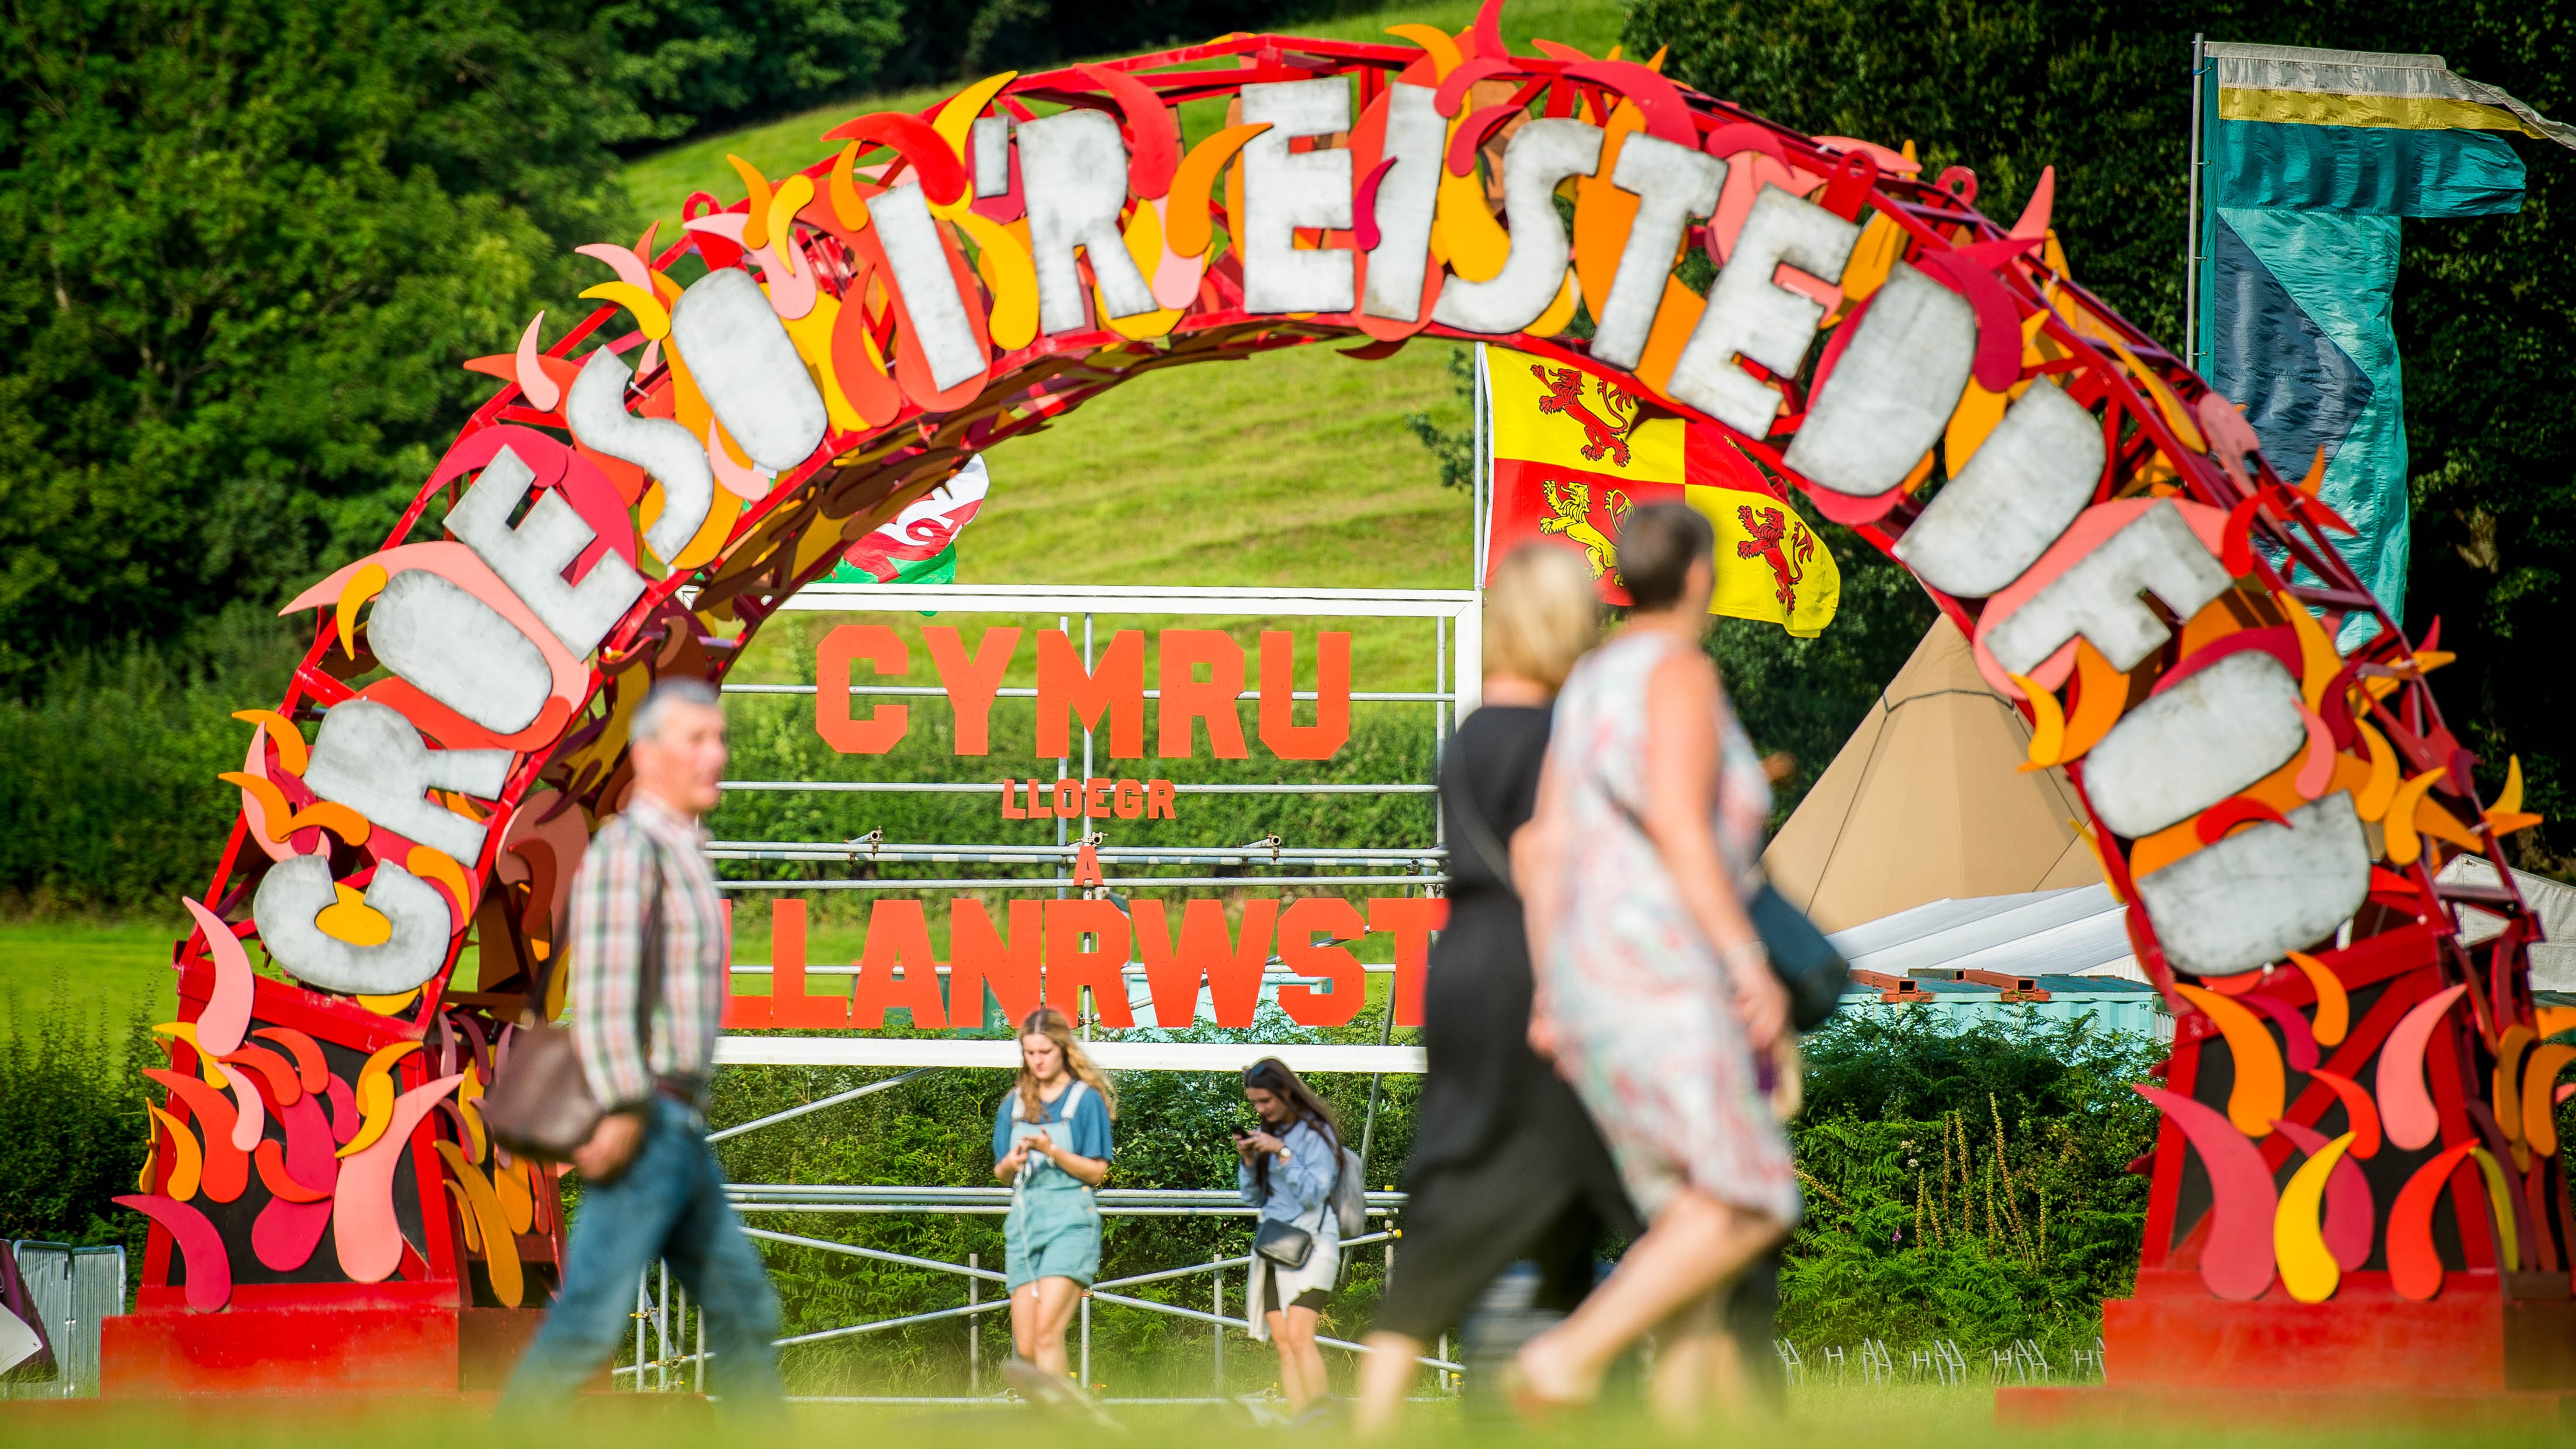
POLYGON ((1996 224, 1960 168, 1788 131, 1654 62, 1512 54, 1497 8, 1404 44, 1229 36, 997 75, 858 116, 793 175, 737 160, 747 199, 690 196, 680 237, 580 248, 600 307, 469 364, 500 392, 384 549, 289 606, 312 647, 273 712, 242 714, 242 815, 191 902, 188 1021, 155 1073, 173 1106, 126 1199, 157 1225, 144 1305, 216 1310, 234 1279, 301 1284, 265 1302, 477 1284, 518 1305, 507 1243, 554 1230, 551 1181, 489 1150, 471 1096, 623 804, 652 681, 721 678, 719 624, 750 637, 979 451, 1136 374, 1425 335, 1682 418, 1973 639, 2035 724, 2030 763, 2084 797, 2179 1016, 2166 1085, 2141 1088, 2169 1114, 2146 1269, 2244 1299, 2277 1266, 2308 1299, 2375 1263, 2429 1297, 2450 1186, 2452 1266, 2563 1271, 2548 1109, 2576 1052, 2530 1049, 2532 928, 2496 846, 2532 817, 2519 776, 2478 802, 2424 686, 2445 655, 2344 567, 2318 472, 2282 477, 2069 276, 2048 178, 1996 224), (1190 103, 1226 116, 1185 144, 1190 103), (2354 614, 2378 637, 2344 657, 2354 614), (2439 882, 2452 853, 2501 884, 2439 882), (2465 946, 2460 905, 2509 926, 2465 946), (252 938, 299 985, 255 977, 252 938), (2215 1106, 2192 1098, 2210 1052, 2231 1062, 2215 1106), (2372 1116, 2352 1158, 2385 1152, 2398 1204, 2357 1256, 2349 1220, 2334 1253, 2313 1212, 2275 1232, 2251 1168, 2331 1111, 2372 1116), (2210 1171, 2187 1189, 2190 1152, 2210 1171), (325 1225, 337 1263, 312 1266, 325 1225))

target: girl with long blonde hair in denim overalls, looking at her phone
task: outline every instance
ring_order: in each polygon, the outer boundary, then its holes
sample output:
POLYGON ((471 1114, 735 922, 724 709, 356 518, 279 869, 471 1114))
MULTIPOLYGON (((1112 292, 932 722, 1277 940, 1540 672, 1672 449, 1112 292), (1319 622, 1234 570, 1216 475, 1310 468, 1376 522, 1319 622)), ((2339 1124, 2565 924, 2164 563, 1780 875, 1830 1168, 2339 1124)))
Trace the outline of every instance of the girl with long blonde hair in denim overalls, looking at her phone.
POLYGON ((1064 1328, 1100 1274, 1100 1207, 1110 1173, 1118 1091, 1074 1039, 1061 1011, 1020 1021, 1020 1080, 992 1114, 992 1176, 1010 1183, 1002 1245, 1010 1284, 1010 1343, 1002 1374, 1023 1395, 1064 1392, 1064 1328))

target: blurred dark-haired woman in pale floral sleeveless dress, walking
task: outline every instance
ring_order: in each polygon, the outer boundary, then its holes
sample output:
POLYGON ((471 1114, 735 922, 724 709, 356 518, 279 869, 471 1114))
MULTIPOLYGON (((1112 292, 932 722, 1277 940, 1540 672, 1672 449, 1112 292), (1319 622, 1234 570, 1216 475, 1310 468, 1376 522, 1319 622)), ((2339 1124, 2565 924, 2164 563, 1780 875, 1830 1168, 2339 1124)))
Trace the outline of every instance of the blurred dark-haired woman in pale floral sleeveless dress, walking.
POLYGON ((1770 781, 1700 650, 1716 536, 1685 505, 1631 516, 1633 611, 1556 699, 1538 817, 1515 841, 1538 959, 1533 1047, 1592 1109, 1649 1230, 1517 1361, 1530 1410, 1589 1403, 1659 1330, 1656 1410, 1731 1379, 1721 1292, 1798 1222, 1788 1137, 1757 1083, 1788 993, 1744 913, 1770 781))

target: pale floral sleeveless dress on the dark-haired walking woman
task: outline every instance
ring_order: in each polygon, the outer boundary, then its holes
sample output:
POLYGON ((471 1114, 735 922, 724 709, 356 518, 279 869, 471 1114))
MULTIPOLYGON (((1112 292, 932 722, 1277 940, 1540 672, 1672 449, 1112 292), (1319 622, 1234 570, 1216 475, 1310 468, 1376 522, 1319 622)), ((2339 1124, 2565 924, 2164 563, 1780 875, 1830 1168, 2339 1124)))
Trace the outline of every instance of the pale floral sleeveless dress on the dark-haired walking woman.
MULTIPOLYGON (((1571 812, 1564 905, 1543 977, 1556 1062, 1592 1109, 1620 1178, 1654 1220, 1682 1189, 1798 1220, 1788 1137, 1754 1080, 1726 964, 1682 905, 1638 815, 1646 779, 1646 681, 1690 645, 1631 629, 1556 696, 1553 763, 1571 812)), ((1718 709, 1718 851, 1749 882, 1770 817, 1752 740, 1718 709)))

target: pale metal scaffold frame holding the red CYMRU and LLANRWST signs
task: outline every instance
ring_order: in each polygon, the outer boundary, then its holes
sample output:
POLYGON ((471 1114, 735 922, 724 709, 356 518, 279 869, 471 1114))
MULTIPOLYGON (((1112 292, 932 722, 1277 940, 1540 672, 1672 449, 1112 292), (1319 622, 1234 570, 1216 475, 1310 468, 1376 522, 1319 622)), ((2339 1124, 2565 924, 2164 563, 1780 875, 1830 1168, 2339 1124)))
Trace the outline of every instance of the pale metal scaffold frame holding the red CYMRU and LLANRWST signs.
MULTIPOLYGON (((1484 678, 1484 639, 1481 639, 1481 593, 1476 590, 1340 590, 1340 588, 1056 588, 1056 585, 938 585, 938 588, 889 588, 889 585, 809 585, 793 598, 783 601, 781 608, 804 611, 850 611, 850 614, 896 614, 896 611, 940 611, 940 614, 1048 614, 1059 611, 1059 627, 1072 634, 1072 616, 1082 614, 1082 663, 1095 665, 1095 619, 1100 614, 1177 614, 1177 616, 1342 616, 1342 619, 1432 619, 1435 645, 1432 645, 1432 688, 1430 691, 1352 691, 1352 704, 1432 704, 1432 761, 1445 753, 1448 735, 1455 719, 1476 709, 1479 688, 1484 678), (1450 657, 1455 637, 1455 663, 1450 657)), ((817 686, 793 683, 726 683, 724 694, 739 696, 811 696, 817 686)), ((943 696, 940 686, 912 686, 912 683, 850 683, 853 696, 943 696)), ((1030 699, 1036 688, 997 688, 999 699, 1030 699)), ((1146 699, 1159 699, 1162 691, 1146 688, 1146 699)), ((1244 691, 1239 699, 1260 699, 1257 691, 1244 691)), ((1314 691, 1296 691, 1296 699, 1316 699, 1314 691)), ((1092 730, 1082 732, 1082 776, 1092 773, 1092 730)), ((1072 755, 1056 761, 1056 779, 1074 779, 1072 755)), ((726 792, 920 792, 920 794, 1002 794, 1005 784, 981 781, 724 781, 726 792)), ((1280 784, 1177 784, 1177 794, 1435 794, 1437 784, 1430 781, 1383 781, 1383 784, 1345 784, 1345 781, 1280 781, 1280 784)), ((1427 848, 1296 848, 1280 843, 1275 835, 1252 846, 1231 848, 1198 848, 1198 846, 1092 846, 1103 869, 1110 866, 1164 866, 1164 864, 1203 864, 1203 866, 1306 866, 1311 874, 1296 877, 1105 877, 1100 890, 1110 887, 1244 887, 1244 884, 1280 884, 1280 887, 1363 887, 1363 884, 1401 884, 1440 890, 1448 884, 1445 864, 1448 851, 1440 841, 1437 815, 1432 817, 1435 843, 1427 848), (1383 874, 1388 866, 1396 874, 1383 874), (1324 874, 1324 871, 1363 871, 1363 874, 1324 874), (1381 874, 1368 874, 1381 871, 1381 874)), ((714 841, 711 856, 719 861, 848 861, 848 864, 981 864, 981 866, 1054 866, 1051 877, 1018 877, 1018 879, 822 879, 822 882, 744 882, 726 879, 719 882, 726 892, 796 892, 796 890, 1054 890, 1064 895, 1072 890, 1072 866, 1084 848, 1082 841, 1072 841, 1066 820, 1056 820, 1054 846, 948 846, 948 843, 884 843, 876 835, 858 841, 714 841)), ((1273 969, 1265 972, 1265 985, 1306 980, 1278 969, 1278 959, 1270 962, 1273 969)), ((770 975, 773 967, 762 964, 732 964, 734 975, 770 975)), ((1386 975, 1394 967, 1363 967, 1368 975, 1386 975)), ((806 967, 806 975, 855 975, 858 967, 806 967)), ((940 967, 945 975, 945 967, 940 967)), ((1126 967, 1128 990, 1133 993, 1144 982, 1144 964, 1128 962, 1126 967)), ((1144 1003, 1131 1003, 1144 1006, 1144 1003)), ((1394 1029, 1394 1011, 1386 1013, 1386 1031, 1394 1029)), ((1084 1026, 1084 1039, 1090 1039, 1090 1026, 1084 1026)), ((1425 1052, 1422 1047, 1396 1047, 1381 1036, 1376 1047, 1347 1047, 1347 1044, 1298 1044, 1298 1042, 1092 1042, 1092 1057, 1108 1070, 1239 1070, 1257 1057, 1278 1055, 1291 1060, 1298 1070, 1332 1070, 1332 1073, 1422 1073, 1425 1052)), ((927 1039, 884 1039, 884 1036, 781 1036, 781 1034, 732 1034, 719 1036, 716 1065, 881 1065, 881 1067, 909 1067, 902 1075, 866 1083, 822 1101, 775 1111, 755 1122, 742 1122, 721 1127, 708 1134, 708 1142, 721 1142, 739 1137, 744 1132, 757 1132, 762 1127, 778 1127, 783 1122, 822 1111, 827 1106, 840 1106, 855 1101, 912 1078, 940 1067, 1012 1067, 1018 1065, 1015 1042, 989 1042, 989 1039, 956 1039, 956 1036, 927 1036, 927 1039)), ((1370 1124, 1363 1129, 1363 1150, 1376 1132, 1376 1106, 1378 1106, 1376 1080, 1370 1083, 1370 1124)), ((742 1214, 768 1214, 768 1212, 829 1212, 829 1214, 891 1214, 891 1212, 933 1212, 933 1214, 999 1214, 1010 1209, 1010 1189, 984 1189, 984 1186, 811 1186, 811 1183, 737 1183, 729 1189, 729 1199, 742 1214)), ((1252 1217, 1255 1209, 1244 1207, 1242 1199, 1224 1189, 1208 1191, 1182 1191, 1182 1189, 1103 1189, 1097 1194, 1103 1217, 1252 1217)), ((1342 1238, 1342 1248, 1363 1248, 1381 1243, 1386 1248, 1386 1269, 1394 1271, 1394 1217, 1404 1209, 1404 1194, 1373 1191, 1368 1194, 1368 1212, 1381 1222, 1376 1232, 1363 1232, 1355 1238, 1342 1238)), ((930 1312, 909 1312, 896 1318, 850 1323, 840 1328, 824 1328, 814 1333, 796 1333, 778 1338, 778 1346, 796 1343, 824 1343, 840 1338, 855 1338, 863 1333, 884 1333, 889 1328, 912 1328, 922 1323, 943 1320, 974 1320, 987 1312, 1010 1305, 1007 1297, 987 1299, 981 1294, 984 1284, 1002 1284, 1005 1276, 984 1269, 979 1253, 969 1253, 966 1263, 951 1263, 943 1258, 920 1258, 912 1253, 889 1253, 884 1248, 860 1248, 855 1243, 832 1243, 824 1238, 804 1238, 796 1232, 775 1232, 768 1227, 744 1227, 755 1240, 783 1243, 793 1248, 811 1248, 822 1253, 842 1253, 853 1258, 868 1258, 881 1263, 899 1263, 909 1269, 927 1269, 938 1274, 953 1274, 966 1281, 966 1302, 958 1307, 943 1307, 930 1312)), ((1090 1385, 1092 1369, 1092 1302, 1159 1312, 1167 1318, 1182 1318, 1193 1323, 1208 1323, 1213 1333, 1213 1385, 1216 1400, 1113 1400, 1113 1403, 1218 1403, 1226 1395, 1226 1328, 1244 1328, 1249 1323, 1242 1318, 1226 1318, 1226 1274, 1234 1269, 1249 1269, 1252 1256, 1216 1258, 1208 1263, 1188 1263, 1177 1269, 1159 1269, 1149 1274, 1131 1274, 1123 1279, 1095 1281, 1082 1294, 1082 1310, 1077 1323, 1079 1336, 1079 1374, 1090 1385), (1208 1310, 1180 1307, 1170 1302, 1154 1302, 1136 1294, 1123 1294, 1115 1289, 1141 1287, 1154 1281, 1172 1281, 1208 1274, 1208 1310)), ((634 1361, 613 1366, 616 1379, 636 1392, 672 1390, 680 1387, 680 1377, 688 1379, 690 1390, 703 1392, 706 1387, 706 1328, 703 1318, 696 1328, 696 1341, 690 1343, 690 1305, 688 1294, 670 1281, 670 1266, 647 1271, 636 1281, 636 1338, 634 1361)), ((1350 1343, 1342 1338, 1316 1338, 1316 1343, 1368 1354, 1365 1343, 1350 1343)), ((1440 1354, 1425 1354, 1419 1364, 1440 1374, 1440 1387, 1453 1390, 1458 1374, 1466 1372, 1463 1364, 1448 1359, 1448 1341, 1443 1338, 1440 1354)), ((969 1390, 974 1397, 920 1397, 920 1395, 832 1395, 832 1403, 1002 1403, 994 1395, 981 1395, 981 1341, 969 1336, 969 1390)))

